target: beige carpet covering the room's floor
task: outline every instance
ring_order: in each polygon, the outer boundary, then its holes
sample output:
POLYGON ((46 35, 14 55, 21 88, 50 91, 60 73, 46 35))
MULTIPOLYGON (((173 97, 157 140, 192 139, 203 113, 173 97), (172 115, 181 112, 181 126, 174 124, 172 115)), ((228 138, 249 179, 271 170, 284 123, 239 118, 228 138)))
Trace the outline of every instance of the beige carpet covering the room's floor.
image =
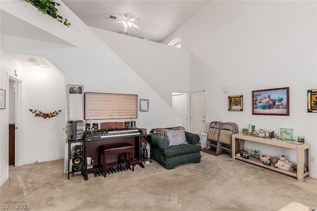
POLYGON ((63 160, 9 168, 0 204, 33 211, 276 211, 290 202, 317 208, 317 179, 264 169, 202 152, 199 164, 158 162, 88 180, 63 173, 63 160))

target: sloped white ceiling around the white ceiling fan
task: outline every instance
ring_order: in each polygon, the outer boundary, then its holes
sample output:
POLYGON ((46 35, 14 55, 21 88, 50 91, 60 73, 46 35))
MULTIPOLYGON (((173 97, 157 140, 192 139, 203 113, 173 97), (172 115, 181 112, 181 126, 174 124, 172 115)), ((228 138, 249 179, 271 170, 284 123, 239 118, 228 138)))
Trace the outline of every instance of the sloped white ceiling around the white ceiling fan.
POLYGON ((134 22, 141 30, 128 28, 128 35, 162 42, 186 20, 200 10, 209 0, 62 0, 86 25, 122 33, 119 14, 139 18, 134 22), (117 19, 109 19, 109 15, 117 19))

